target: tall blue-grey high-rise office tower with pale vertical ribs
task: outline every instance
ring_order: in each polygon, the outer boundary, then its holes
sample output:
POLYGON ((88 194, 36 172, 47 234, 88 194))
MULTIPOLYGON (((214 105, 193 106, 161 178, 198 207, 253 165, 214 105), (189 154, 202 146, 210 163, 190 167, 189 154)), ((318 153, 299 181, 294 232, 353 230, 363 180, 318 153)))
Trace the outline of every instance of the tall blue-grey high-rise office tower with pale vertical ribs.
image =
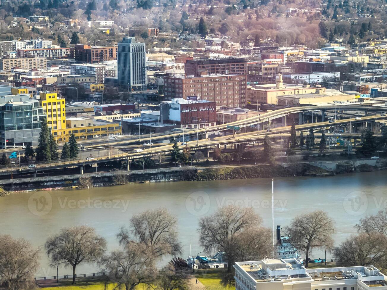
POLYGON ((144 42, 134 37, 123 37, 118 42, 117 78, 105 78, 105 83, 127 86, 131 91, 147 89, 146 50, 144 42))

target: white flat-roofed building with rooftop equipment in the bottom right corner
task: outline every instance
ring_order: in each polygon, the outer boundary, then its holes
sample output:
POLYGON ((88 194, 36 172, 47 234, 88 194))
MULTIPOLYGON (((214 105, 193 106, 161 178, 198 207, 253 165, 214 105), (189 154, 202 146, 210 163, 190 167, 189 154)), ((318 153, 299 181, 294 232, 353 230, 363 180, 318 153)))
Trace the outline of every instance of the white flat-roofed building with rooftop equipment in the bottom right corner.
POLYGON ((374 266, 305 267, 296 259, 237 262, 236 290, 386 290, 387 277, 374 266))

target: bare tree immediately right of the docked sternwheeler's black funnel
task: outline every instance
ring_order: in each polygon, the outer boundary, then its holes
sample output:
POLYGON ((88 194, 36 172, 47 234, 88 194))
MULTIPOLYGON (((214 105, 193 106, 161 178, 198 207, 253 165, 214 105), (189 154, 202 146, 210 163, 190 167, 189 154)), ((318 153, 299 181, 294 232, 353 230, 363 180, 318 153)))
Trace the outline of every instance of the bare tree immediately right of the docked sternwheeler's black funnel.
POLYGON ((313 248, 326 246, 332 248, 334 221, 327 212, 317 210, 296 216, 291 224, 286 227, 287 234, 295 239, 298 237, 299 249, 306 254, 305 266, 308 267, 309 252, 313 248))

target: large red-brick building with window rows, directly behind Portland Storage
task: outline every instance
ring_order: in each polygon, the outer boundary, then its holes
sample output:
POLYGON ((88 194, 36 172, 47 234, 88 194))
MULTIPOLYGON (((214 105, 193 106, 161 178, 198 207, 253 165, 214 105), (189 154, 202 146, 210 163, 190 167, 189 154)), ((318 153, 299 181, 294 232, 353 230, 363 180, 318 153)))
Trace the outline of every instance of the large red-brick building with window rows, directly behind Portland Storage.
POLYGON ((214 101, 217 106, 244 107, 246 105, 246 75, 207 74, 197 70, 194 76, 164 77, 164 98, 198 99, 214 101))

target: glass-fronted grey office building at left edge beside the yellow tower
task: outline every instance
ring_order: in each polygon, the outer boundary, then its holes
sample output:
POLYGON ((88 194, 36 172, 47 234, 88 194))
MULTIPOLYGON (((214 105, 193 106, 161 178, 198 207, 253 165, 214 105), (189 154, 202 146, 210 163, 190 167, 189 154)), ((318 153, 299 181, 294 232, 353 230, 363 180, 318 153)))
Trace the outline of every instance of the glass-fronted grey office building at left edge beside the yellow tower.
POLYGON ((43 118, 39 100, 28 94, 0 96, 0 147, 38 145, 43 118))

